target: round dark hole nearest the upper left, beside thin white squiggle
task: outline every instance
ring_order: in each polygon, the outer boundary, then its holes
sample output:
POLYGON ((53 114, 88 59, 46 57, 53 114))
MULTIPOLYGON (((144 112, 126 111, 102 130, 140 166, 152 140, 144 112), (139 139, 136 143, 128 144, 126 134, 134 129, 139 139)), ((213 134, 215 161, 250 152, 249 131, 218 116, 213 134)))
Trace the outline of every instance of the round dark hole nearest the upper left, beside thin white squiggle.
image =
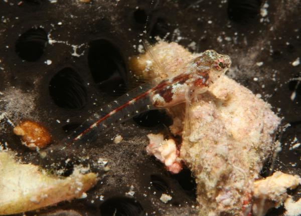
POLYGON ((44 29, 33 28, 19 37, 15 50, 20 58, 34 62, 43 55, 47 41, 47 33, 44 29))

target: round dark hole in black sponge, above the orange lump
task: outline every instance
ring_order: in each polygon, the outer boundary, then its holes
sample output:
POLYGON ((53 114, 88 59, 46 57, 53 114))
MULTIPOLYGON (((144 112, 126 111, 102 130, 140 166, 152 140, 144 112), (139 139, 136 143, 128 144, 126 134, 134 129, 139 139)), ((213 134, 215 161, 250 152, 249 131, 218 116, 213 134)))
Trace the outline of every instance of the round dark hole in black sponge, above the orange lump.
POLYGON ((87 103, 84 81, 72 68, 62 69, 51 79, 49 93, 62 108, 81 109, 87 103))

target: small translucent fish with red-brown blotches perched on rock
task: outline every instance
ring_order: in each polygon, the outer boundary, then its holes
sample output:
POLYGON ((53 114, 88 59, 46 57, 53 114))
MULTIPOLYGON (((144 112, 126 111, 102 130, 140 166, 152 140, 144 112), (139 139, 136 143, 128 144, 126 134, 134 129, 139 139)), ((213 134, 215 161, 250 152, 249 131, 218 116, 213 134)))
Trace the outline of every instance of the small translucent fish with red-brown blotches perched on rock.
POLYGON ((62 142, 65 145, 86 143, 95 134, 104 133, 142 112, 188 102, 206 92, 230 65, 229 56, 207 50, 190 61, 179 75, 160 83, 145 83, 101 107, 62 142))

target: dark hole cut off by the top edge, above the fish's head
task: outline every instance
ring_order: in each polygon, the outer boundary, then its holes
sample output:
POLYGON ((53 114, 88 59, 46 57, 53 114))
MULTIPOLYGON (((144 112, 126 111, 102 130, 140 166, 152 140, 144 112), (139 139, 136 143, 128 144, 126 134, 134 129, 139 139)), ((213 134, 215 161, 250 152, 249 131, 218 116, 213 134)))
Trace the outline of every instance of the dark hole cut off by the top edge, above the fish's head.
POLYGON ((260 12, 261 0, 229 0, 228 17, 237 23, 248 23, 260 12))

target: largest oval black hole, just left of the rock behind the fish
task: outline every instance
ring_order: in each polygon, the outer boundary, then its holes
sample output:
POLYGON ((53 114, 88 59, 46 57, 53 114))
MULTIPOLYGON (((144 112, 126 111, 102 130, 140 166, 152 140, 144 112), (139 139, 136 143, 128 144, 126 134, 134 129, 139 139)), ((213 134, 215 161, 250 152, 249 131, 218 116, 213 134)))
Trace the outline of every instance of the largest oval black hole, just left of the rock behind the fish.
POLYGON ((121 94, 126 86, 126 68, 120 52, 109 41, 92 41, 88 52, 88 64, 94 82, 102 91, 121 94))

